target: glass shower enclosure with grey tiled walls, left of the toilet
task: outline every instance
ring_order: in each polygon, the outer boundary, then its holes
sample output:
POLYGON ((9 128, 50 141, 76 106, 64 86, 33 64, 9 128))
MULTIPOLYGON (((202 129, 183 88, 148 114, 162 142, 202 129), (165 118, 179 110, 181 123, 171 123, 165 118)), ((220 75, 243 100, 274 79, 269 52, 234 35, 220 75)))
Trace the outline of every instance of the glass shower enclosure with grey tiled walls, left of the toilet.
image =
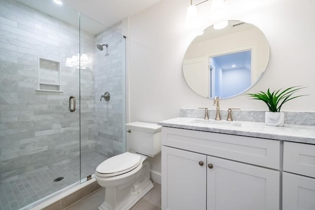
POLYGON ((0 0, 0 210, 27 209, 126 151, 121 25, 53 0, 0 0))

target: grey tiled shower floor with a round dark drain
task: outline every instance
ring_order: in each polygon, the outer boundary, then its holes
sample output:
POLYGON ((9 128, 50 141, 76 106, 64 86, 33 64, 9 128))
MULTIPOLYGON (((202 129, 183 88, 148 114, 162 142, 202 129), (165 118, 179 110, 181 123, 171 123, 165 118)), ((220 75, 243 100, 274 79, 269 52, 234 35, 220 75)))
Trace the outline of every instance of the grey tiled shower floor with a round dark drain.
POLYGON ((16 180, 0 180, 0 210, 19 210, 50 194, 67 187, 90 174, 95 173, 99 163, 106 157, 95 152, 83 154, 80 158, 33 170, 19 175, 16 180), (63 180, 54 182, 56 178, 63 180))

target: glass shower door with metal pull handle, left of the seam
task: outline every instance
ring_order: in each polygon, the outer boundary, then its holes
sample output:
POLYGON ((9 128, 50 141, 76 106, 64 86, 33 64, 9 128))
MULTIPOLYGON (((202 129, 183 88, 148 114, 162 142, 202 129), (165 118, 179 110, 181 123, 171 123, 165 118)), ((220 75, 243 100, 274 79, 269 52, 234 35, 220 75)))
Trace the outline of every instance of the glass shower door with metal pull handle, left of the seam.
POLYGON ((79 46, 73 9, 0 0, 0 210, 80 181, 79 46))

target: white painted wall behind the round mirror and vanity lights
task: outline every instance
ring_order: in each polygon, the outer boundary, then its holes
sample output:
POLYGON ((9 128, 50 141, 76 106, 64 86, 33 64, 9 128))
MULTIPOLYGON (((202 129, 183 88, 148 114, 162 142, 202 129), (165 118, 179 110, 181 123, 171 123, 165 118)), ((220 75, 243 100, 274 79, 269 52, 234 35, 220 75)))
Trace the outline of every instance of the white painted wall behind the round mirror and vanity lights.
MULTIPOLYGON (((284 111, 315 111, 315 1, 225 0, 228 19, 257 26, 266 35, 270 59, 260 81, 248 92, 302 85, 311 94, 284 105, 284 111), (298 72, 298 74, 297 74, 298 72), (312 95, 313 94, 313 95, 312 95)), ((181 107, 212 106, 211 99, 195 94, 184 80, 182 61, 194 32, 185 28, 189 0, 161 1, 130 17, 130 121, 157 122, 178 117, 181 107)), ((210 2, 197 6, 209 20, 210 2), (206 9, 207 12, 206 12, 206 9)), ((230 107, 266 110, 264 103, 240 95, 223 99, 230 107)))

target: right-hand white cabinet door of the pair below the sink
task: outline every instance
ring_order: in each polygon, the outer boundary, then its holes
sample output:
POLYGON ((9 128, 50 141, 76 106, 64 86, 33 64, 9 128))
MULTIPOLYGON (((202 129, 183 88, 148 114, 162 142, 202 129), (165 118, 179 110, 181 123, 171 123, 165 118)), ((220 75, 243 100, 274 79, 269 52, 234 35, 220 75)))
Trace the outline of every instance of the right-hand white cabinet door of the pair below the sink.
POLYGON ((279 210, 280 172, 208 156, 207 210, 279 210))

